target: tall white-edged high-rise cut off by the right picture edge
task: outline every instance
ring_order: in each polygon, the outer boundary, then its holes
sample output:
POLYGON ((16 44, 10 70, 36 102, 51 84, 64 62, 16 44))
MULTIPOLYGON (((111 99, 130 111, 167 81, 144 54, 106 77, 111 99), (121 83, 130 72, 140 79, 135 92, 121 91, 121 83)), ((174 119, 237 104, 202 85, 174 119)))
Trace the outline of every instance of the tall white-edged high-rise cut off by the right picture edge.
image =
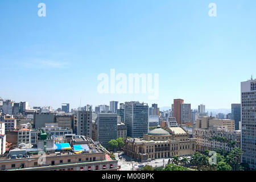
POLYGON ((241 82, 242 162, 256 167, 256 79, 241 82))

